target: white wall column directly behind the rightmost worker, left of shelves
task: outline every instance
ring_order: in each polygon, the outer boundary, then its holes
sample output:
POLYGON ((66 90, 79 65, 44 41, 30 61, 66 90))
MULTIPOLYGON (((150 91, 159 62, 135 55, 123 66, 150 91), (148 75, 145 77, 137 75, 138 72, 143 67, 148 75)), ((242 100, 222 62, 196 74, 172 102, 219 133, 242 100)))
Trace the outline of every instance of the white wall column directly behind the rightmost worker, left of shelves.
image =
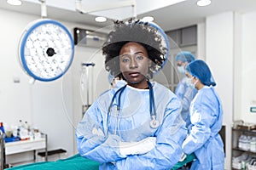
POLYGON ((233 62, 234 20, 233 13, 216 14, 206 20, 206 61, 217 82, 216 90, 224 108, 226 126, 225 168, 230 169, 230 150, 233 117, 233 62))

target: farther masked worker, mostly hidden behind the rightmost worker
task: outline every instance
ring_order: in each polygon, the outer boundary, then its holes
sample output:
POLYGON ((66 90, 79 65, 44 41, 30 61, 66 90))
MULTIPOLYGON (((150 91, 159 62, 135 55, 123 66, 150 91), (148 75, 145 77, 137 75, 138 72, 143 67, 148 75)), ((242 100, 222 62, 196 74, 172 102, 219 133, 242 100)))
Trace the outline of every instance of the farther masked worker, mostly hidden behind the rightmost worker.
POLYGON ((175 57, 177 71, 179 71, 183 75, 183 79, 178 82, 177 88, 175 90, 175 94, 177 98, 180 99, 183 110, 181 114, 183 116, 183 120, 186 122, 186 127, 190 124, 190 117, 189 117, 189 106, 194 99, 195 94, 197 93, 196 88, 192 88, 189 86, 189 78, 185 75, 185 66, 188 65, 191 61, 195 60, 195 56, 191 54, 189 51, 182 51, 178 53, 175 57))

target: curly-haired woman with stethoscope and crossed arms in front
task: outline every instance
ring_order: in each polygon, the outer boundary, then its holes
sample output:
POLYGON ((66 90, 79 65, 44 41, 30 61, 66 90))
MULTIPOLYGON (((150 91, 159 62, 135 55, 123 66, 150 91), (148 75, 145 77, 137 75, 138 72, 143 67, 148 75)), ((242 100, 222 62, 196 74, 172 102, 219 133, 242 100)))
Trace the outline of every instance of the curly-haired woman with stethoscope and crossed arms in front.
POLYGON ((76 129, 79 154, 100 169, 171 169, 183 154, 181 103, 149 81, 166 60, 156 31, 137 20, 116 22, 103 45, 106 70, 127 84, 101 94, 76 129))

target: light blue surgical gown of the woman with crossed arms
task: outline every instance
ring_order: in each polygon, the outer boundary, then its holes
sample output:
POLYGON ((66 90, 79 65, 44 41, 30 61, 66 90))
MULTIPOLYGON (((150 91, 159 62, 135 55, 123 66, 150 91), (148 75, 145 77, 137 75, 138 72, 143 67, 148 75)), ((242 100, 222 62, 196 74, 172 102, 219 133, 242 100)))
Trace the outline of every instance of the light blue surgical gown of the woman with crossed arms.
POLYGON ((170 169, 182 156, 187 128, 180 116, 181 104, 169 89, 153 82, 156 119, 160 127, 149 126, 149 90, 128 86, 108 107, 117 88, 99 96, 90 106, 76 129, 79 154, 101 163, 100 169, 170 169), (97 130, 103 135, 96 134, 97 130), (93 133, 94 132, 94 133, 93 133), (154 149, 143 155, 123 156, 119 142, 138 142, 156 137, 154 149))

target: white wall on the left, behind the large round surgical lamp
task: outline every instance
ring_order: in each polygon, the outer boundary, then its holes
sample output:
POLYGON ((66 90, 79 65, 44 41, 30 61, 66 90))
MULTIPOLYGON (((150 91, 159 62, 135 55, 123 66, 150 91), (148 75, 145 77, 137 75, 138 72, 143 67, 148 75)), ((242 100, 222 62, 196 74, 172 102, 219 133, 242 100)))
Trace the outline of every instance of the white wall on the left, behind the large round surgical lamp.
MULTIPOLYGON (((67 150, 67 156, 73 156, 76 153, 74 130, 82 116, 82 104, 87 102, 84 100, 86 94, 80 91, 81 63, 96 63, 94 78, 90 71, 91 103, 97 94, 109 87, 104 58, 97 48, 75 47, 73 64, 64 77, 53 82, 30 84, 30 77, 19 63, 18 45, 26 26, 39 18, 0 9, 0 20, 4 23, 0 27, 0 120, 9 125, 17 125, 20 119, 27 121, 48 134, 49 150, 63 148, 67 150), (15 83, 14 79, 20 79, 20 83, 15 83), (92 80, 101 83, 95 86, 92 80)), ((60 22, 71 34, 74 27, 96 30, 92 26, 60 22)))

